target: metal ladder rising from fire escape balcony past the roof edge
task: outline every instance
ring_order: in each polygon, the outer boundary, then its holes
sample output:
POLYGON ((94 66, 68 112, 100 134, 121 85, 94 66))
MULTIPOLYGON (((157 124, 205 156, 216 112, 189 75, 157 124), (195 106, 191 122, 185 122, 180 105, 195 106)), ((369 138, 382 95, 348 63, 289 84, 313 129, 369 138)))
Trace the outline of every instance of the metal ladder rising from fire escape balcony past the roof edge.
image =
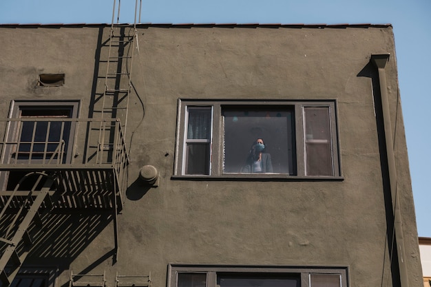
POLYGON ((134 59, 135 39, 137 37, 136 17, 142 7, 142 0, 136 0, 134 23, 120 24, 120 2, 114 0, 112 9, 112 23, 109 30, 109 39, 105 43, 108 47, 107 56, 101 62, 105 63, 105 84, 103 94, 95 99, 101 102, 94 108, 94 118, 107 120, 119 119, 123 134, 127 127, 127 114, 129 108, 129 95, 132 90, 132 65, 134 59), (140 2, 138 8, 138 1, 140 2), (116 19, 116 22, 115 22, 116 19))

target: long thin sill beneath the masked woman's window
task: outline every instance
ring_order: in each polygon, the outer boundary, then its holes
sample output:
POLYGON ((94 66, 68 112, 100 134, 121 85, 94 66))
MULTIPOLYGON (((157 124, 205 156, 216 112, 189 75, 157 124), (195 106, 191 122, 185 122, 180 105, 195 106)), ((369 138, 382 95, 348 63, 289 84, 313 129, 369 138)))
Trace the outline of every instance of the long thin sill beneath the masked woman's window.
POLYGON ((288 176, 280 173, 246 174, 227 173, 221 176, 171 176, 171 180, 196 180, 196 181, 265 181, 265 182, 317 182, 317 181, 344 181, 343 176, 288 176))

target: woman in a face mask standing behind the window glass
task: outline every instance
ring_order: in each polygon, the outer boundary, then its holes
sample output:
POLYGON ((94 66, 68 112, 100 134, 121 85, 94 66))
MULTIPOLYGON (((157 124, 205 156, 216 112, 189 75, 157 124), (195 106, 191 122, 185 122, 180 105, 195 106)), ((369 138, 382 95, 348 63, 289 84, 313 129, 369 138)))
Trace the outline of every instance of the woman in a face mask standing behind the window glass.
POLYGON ((271 154, 265 152, 265 144, 262 138, 257 138, 251 146, 249 157, 246 160, 245 167, 242 168, 243 173, 271 173, 273 172, 273 164, 271 154))

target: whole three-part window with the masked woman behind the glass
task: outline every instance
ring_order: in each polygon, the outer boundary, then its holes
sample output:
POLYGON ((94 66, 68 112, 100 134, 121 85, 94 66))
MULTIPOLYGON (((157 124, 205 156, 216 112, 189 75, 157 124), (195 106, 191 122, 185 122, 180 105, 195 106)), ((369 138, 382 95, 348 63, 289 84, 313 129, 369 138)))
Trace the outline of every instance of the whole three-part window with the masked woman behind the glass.
POLYGON ((178 114, 176 176, 341 176, 335 101, 180 100, 178 114))

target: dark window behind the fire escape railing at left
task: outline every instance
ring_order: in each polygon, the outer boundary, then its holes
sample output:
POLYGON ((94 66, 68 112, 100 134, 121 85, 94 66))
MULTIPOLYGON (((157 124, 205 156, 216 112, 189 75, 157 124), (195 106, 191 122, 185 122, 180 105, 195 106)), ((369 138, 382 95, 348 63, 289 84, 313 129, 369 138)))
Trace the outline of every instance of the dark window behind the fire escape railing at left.
MULTIPOLYGON (((14 100, 8 122, 7 143, 3 146, 3 164, 65 164, 72 160, 78 101, 14 100)), ((12 170, 1 174, 3 190, 13 190, 27 171, 12 170), (5 186, 6 182, 6 186, 5 186)), ((32 180, 22 189, 32 186, 32 180)))

